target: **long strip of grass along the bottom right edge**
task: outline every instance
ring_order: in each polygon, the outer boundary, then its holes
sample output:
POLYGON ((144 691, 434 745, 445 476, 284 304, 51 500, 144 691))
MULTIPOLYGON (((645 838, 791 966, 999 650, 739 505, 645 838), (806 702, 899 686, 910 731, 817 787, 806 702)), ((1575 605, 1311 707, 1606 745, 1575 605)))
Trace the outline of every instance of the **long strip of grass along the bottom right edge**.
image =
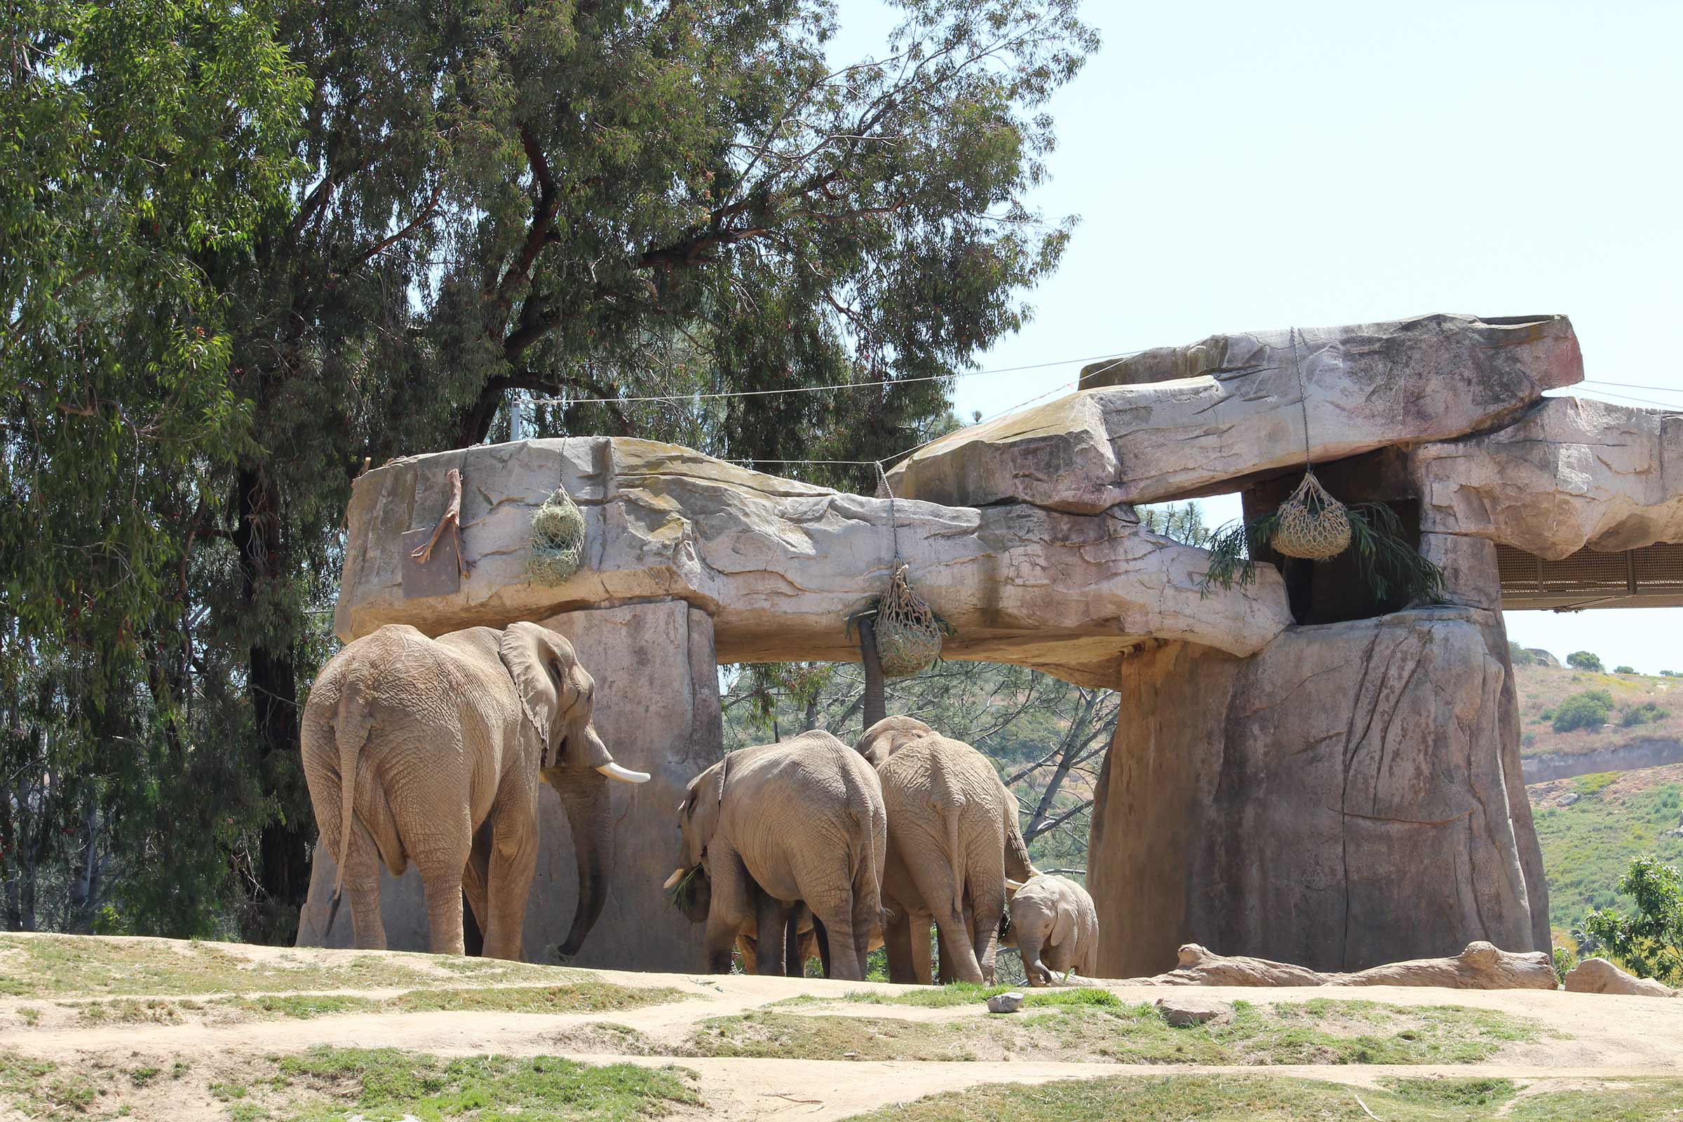
POLYGON ((973 1087, 862 1114, 855 1122, 1484 1122, 1510 1103, 1503 1117, 1515 1122, 1676 1119, 1683 1080, 1609 1080, 1564 1092, 1543 1083, 1543 1090, 1520 1095, 1508 1080, 1483 1078, 1351 1088, 1264 1075, 1118 1077, 973 1087))

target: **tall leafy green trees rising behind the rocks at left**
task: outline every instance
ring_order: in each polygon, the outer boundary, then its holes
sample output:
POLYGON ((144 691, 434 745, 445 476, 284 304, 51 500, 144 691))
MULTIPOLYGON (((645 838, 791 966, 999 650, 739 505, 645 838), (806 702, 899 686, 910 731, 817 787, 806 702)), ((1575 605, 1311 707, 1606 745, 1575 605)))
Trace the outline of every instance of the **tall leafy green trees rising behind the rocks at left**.
POLYGON ((855 66, 825 0, 7 15, 5 918, 269 940, 364 459, 502 437, 512 395, 749 459, 951 427, 1067 246, 1030 195, 1097 45, 1075 0, 911 3, 855 66))

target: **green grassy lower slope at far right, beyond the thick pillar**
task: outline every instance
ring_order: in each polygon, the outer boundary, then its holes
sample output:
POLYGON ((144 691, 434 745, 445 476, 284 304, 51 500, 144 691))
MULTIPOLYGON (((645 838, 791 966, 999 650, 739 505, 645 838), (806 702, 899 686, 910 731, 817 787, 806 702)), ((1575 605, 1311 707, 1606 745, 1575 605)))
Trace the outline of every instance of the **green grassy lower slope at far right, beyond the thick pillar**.
POLYGON ((1579 775, 1582 796, 1572 806, 1545 806, 1533 814, 1548 880, 1548 924, 1570 930, 1594 908, 1629 907, 1619 876, 1631 858, 1651 855, 1683 863, 1683 838, 1664 836, 1683 818, 1683 784, 1658 784, 1621 794, 1621 774, 1579 775))

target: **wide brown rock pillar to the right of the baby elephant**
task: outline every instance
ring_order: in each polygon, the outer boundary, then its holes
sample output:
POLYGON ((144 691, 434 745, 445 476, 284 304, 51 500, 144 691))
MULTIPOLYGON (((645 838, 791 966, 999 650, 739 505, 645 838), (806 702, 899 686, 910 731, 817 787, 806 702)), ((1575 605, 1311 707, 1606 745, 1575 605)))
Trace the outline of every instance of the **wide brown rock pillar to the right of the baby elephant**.
POLYGON ((1168 643, 1121 690, 1087 863, 1102 976, 1183 942, 1314 971, 1547 945, 1488 614, 1299 627, 1249 659, 1168 643))

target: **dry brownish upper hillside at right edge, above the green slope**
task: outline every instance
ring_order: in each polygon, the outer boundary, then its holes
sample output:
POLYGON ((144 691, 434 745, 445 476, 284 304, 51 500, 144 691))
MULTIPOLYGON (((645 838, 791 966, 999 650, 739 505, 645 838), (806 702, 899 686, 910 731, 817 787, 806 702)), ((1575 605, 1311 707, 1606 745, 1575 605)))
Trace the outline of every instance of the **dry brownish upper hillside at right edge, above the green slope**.
POLYGON ((1683 678, 1611 675, 1564 666, 1515 666, 1520 695, 1520 755, 1526 781, 1555 774, 1627 770, 1683 760, 1683 678), (1604 695, 1604 717, 1580 728, 1557 728, 1562 705, 1577 695, 1604 695), (1575 767, 1569 757, 1590 757, 1575 767), (1626 757, 1626 759, 1621 759, 1626 757))

